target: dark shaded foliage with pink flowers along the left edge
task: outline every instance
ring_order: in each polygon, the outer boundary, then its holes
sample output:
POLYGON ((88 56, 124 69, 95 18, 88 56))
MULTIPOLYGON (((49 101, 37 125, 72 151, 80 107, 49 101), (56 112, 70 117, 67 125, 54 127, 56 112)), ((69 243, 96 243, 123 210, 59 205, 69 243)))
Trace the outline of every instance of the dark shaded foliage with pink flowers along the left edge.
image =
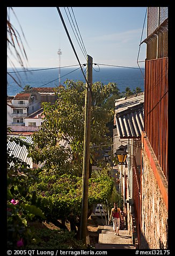
MULTIPOLYGON (((29 146, 25 141, 16 137, 8 137, 20 146, 29 146)), ((8 248, 25 248, 33 239, 32 229, 28 222, 38 216, 44 218, 42 211, 34 205, 28 204, 30 193, 28 187, 35 181, 29 166, 22 160, 15 158, 7 151, 7 234, 8 248)))

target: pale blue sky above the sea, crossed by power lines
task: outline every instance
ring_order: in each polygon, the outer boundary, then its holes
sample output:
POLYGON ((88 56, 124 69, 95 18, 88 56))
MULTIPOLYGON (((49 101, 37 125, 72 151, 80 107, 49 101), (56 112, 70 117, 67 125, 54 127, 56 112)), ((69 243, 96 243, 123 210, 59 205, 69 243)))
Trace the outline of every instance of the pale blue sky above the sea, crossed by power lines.
MULTIPOLYGON (((93 63, 138 67, 137 56, 146 9, 146 7, 72 8, 86 52, 92 56, 93 63)), ((10 21, 20 33, 25 46, 27 67, 59 67, 60 64, 61 66, 78 64, 56 7, 13 7, 13 10, 27 41, 26 44, 17 19, 11 13, 10 21), (60 61, 57 54, 59 48, 62 51, 60 61)), ((65 7, 64 10, 60 7, 60 10, 79 61, 86 63, 65 13, 65 10, 69 13, 68 9, 65 7)), ((71 8, 69 11, 71 12, 71 8)), ((72 12, 71 16, 74 19, 72 12)), ((147 20, 142 40, 147 37, 146 31, 147 20)), ((146 45, 142 44, 139 61, 145 60, 145 52, 146 45)), ((12 56, 11 60, 16 67, 19 67, 12 56)), ((144 67, 144 62, 140 62, 140 66, 144 67)), ((9 63, 8 67, 10 67, 9 63)))

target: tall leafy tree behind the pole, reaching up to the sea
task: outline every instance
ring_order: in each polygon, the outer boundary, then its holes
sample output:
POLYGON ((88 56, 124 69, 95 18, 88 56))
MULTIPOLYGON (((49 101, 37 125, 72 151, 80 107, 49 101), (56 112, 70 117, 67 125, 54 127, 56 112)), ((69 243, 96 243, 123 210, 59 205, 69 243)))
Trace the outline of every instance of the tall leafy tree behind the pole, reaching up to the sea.
MULTIPOLYGON (((45 119, 41 129, 33 134, 37 148, 33 152, 31 151, 31 157, 36 162, 42 160, 46 161, 47 164, 52 159, 49 150, 54 151, 55 147, 54 159, 59 161, 63 156, 65 160, 65 155, 67 155, 69 159, 71 158, 71 169, 74 166, 74 170, 77 170, 77 173, 74 172, 74 174, 81 176, 85 84, 82 81, 67 80, 65 85, 66 88, 57 89, 56 93, 59 94, 59 100, 54 105, 43 104, 45 119), (56 147, 57 141, 62 139, 67 140, 71 148, 71 151, 64 150, 64 155, 60 153, 61 149, 58 145, 56 147), (48 155, 50 155, 49 158, 48 155)), ((113 93, 116 95, 114 83, 104 85, 97 82, 92 84, 91 146, 99 145, 99 148, 96 147, 94 150, 91 147, 91 159, 95 158, 97 150, 101 151, 100 145, 111 144, 110 137, 107 136, 109 132, 107 124, 113 120, 113 109, 106 108, 106 102, 113 93)), ((64 168, 65 172, 70 173, 70 168, 64 168)))

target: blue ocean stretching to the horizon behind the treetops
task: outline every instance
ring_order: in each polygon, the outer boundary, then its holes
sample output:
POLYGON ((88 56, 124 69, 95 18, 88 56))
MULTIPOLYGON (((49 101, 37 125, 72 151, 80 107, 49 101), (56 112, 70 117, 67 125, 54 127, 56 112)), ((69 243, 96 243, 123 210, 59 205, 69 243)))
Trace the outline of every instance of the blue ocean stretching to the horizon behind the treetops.
MULTIPOLYGON (((8 72, 12 72, 12 68, 7 69, 8 72)), ((18 68, 18 71, 23 69, 18 68)), ((85 82, 84 76, 82 74, 81 68, 77 65, 76 67, 62 67, 55 69, 45 69, 45 68, 28 68, 28 70, 33 70, 31 72, 19 72, 10 73, 20 83, 20 86, 7 75, 8 86, 7 94, 8 96, 14 96, 17 93, 23 91, 26 85, 31 87, 57 87, 59 86, 59 73, 60 73, 60 83, 64 86, 65 80, 74 80, 75 82, 80 80, 85 82), (37 69, 37 70, 35 70, 37 69), (42 70, 38 70, 42 69, 42 70)), ((86 75, 86 67, 83 67, 83 71, 86 75)), ((144 75, 144 69, 142 69, 144 75)), ((124 68, 124 67, 100 67, 93 65, 92 80, 94 82, 102 82, 103 84, 108 84, 109 82, 116 83, 120 93, 125 91, 126 87, 130 90, 135 90, 136 87, 140 87, 144 90, 144 78, 139 68, 124 68)))

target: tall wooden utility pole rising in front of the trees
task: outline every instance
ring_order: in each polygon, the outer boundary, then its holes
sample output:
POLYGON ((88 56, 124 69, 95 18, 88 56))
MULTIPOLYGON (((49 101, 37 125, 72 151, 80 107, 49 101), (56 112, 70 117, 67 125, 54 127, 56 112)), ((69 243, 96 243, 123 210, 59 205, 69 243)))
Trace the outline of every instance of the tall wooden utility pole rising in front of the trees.
POLYGON ((85 91, 85 119, 84 119, 84 153, 82 174, 82 214, 80 239, 85 245, 88 230, 88 186, 89 186, 89 161, 90 161, 90 136, 91 136, 91 103, 92 103, 92 57, 88 55, 88 69, 86 73, 85 91))

